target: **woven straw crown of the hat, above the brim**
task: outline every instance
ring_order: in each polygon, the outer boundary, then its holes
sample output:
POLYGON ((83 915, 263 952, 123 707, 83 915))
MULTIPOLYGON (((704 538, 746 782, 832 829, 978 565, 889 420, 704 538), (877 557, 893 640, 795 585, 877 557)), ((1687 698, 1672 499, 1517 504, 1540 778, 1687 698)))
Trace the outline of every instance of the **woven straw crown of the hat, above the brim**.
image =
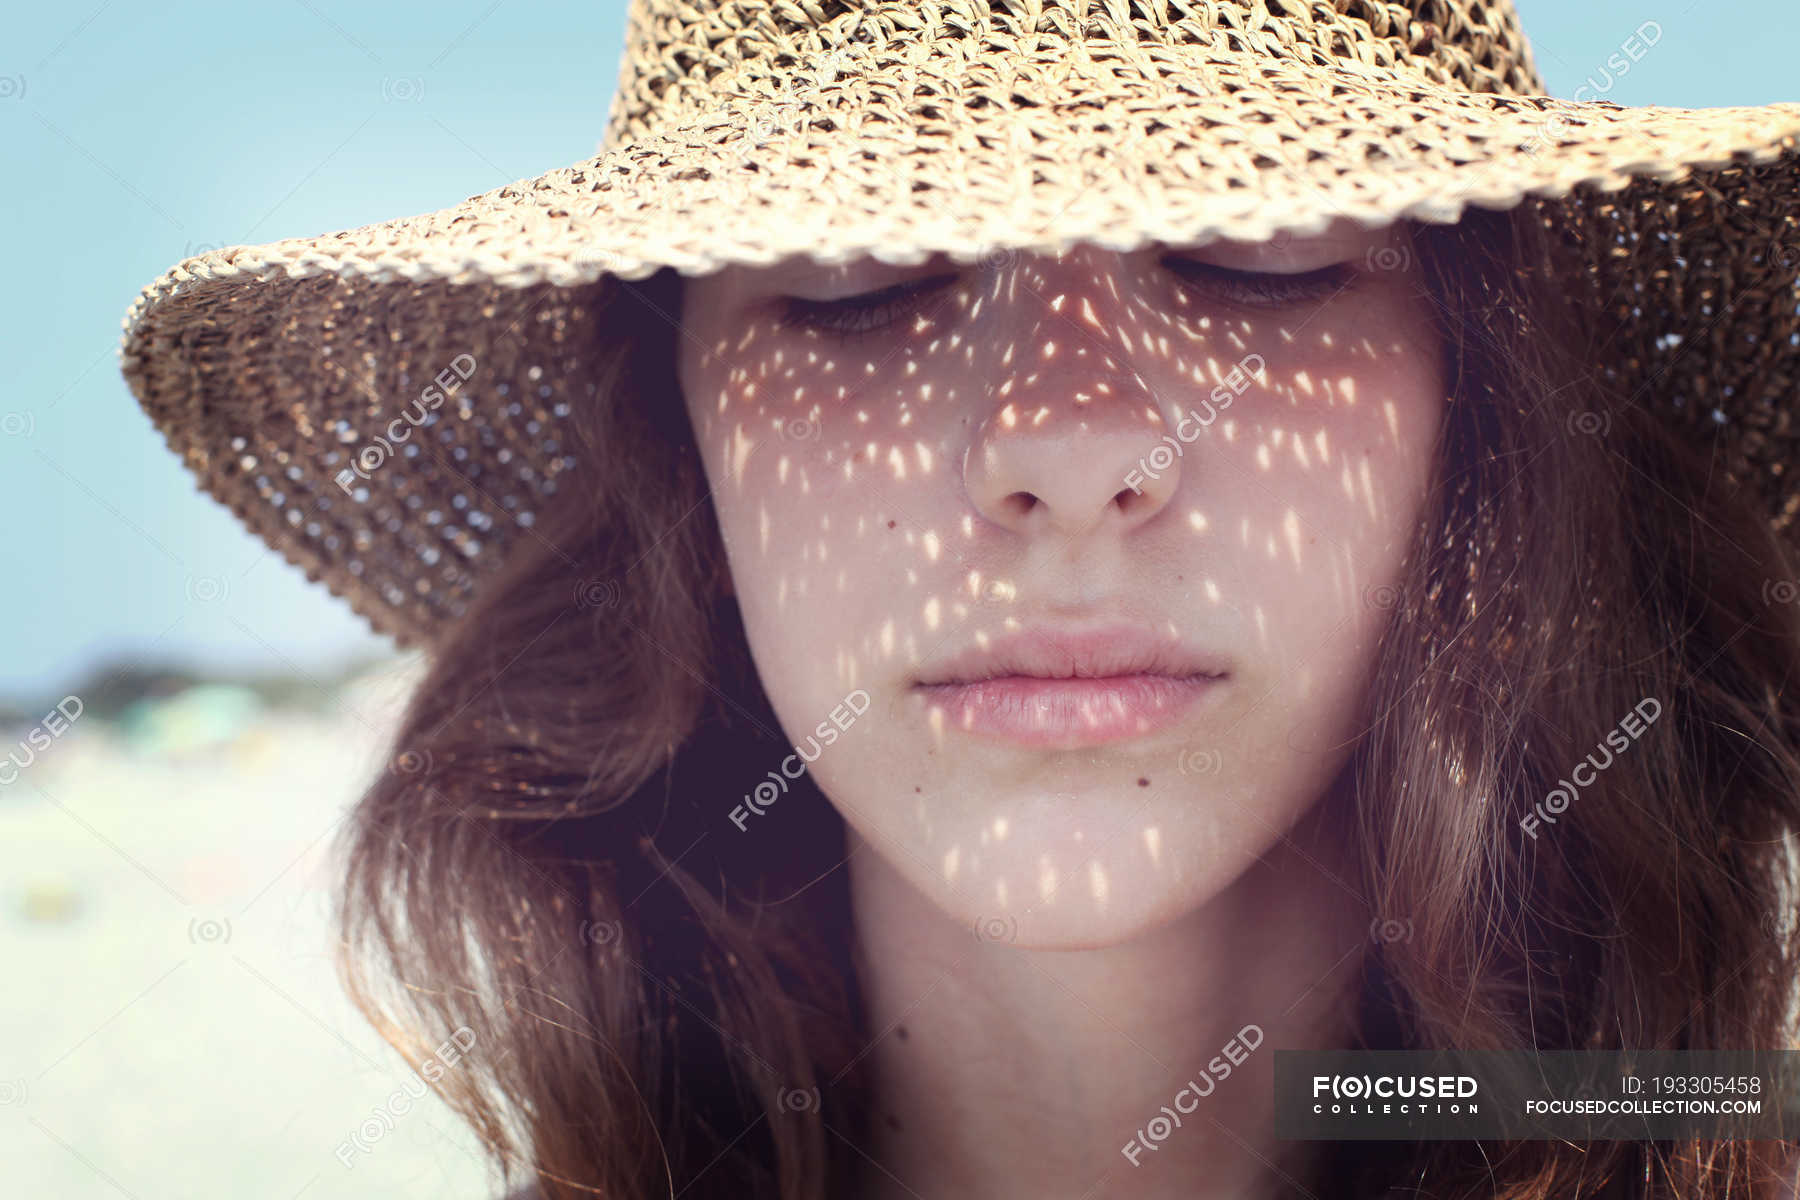
POLYGON ((632 0, 605 144, 727 95, 776 95, 868 50, 1026 67, 1181 45, 1544 92, 1512 0, 632 0))

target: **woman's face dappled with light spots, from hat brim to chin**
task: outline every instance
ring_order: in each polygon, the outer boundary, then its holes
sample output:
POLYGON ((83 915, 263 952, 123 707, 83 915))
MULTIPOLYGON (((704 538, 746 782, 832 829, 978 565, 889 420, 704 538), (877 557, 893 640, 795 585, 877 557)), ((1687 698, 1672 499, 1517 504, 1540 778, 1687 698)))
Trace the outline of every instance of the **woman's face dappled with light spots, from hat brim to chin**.
MULTIPOLYGON (((1359 734, 1445 405, 1431 315, 1406 228, 1348 223, 688 281, 785 774, 986 936, 1206 903, 1359 734)), ((747 770, 725 837, 779 795, 779 756, 747 770)))

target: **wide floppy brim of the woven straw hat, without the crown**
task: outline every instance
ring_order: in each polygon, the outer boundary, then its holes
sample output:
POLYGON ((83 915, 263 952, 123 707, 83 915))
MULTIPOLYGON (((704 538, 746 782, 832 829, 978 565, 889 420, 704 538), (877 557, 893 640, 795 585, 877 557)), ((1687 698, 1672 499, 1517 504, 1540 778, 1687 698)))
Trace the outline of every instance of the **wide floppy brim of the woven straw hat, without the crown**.
POLYGON ((1789 524, 1800 500, 1771 434, 1800 378, 1800 104, 1620 108, 1210 49, 1174 72, 1039 67, 1055 104, 961 106, 941 81, 891 112, 855 77, 733 97, 436 212, 212 250, 131 306, 122 371, 212 497, 414 644, 574 466, 558 428, 592 387, 605 331, 585 322, 608 277, 1260 241, 1570 198, 1606 293, 1638 297, 1627 385, 1679 389, 1678 360, 1730 354, 1697 369, 1712 389, 1672 417, 1728 425, 1739 470, 1789 524), (414 441, 335 482, 472 353, 479 376, 414 441))

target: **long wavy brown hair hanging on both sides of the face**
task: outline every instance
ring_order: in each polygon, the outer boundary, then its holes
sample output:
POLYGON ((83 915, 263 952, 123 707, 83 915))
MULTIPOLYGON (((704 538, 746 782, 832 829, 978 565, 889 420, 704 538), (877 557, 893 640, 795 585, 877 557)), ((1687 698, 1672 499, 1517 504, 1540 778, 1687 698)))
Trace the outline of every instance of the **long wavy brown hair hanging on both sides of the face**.
MULTIPOLYGON (((1800 622, 1786 547, 1595 363, 1525 203, 1420 227, 1456 381, 1336 819, 1384 930, 1363 1043, 1775 1049, 1800 964, 1800 622), (1771 581, 1777 587, 1771 596, 1771 581), (1645 698, 1661 716, 1546 797, 1645 698), (1521 824, 1532 813, 1532 831, 1521 824), (1543 817, 1555 817, 1543 820, 1543 817)), ((583 466, 432 653, 340 856, 340 970, 502 1182, 844 1195, 866 1128, 842 820, 756 680, 675 383, 680 281, 596 293, 625 347, 583 466), (754 842, 754 847, 749 846, 754 842)), ((1334 1195, 1764 1195, 1782 1144, 1364 1142, 1334 1195)))

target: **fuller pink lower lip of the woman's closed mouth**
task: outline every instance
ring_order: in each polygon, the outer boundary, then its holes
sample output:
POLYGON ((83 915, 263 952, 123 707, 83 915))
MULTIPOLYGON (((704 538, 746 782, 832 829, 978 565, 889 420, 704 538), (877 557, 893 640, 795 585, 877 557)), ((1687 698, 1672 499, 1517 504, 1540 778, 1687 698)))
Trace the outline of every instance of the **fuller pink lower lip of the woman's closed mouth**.
POLYGON ((1143 738, 1183 720, 1224 684, 1222 675, 1111 675, 1037 678, 1008 675, 918 691, 956 729, 1030 747, 1091 747, 1143 738))

